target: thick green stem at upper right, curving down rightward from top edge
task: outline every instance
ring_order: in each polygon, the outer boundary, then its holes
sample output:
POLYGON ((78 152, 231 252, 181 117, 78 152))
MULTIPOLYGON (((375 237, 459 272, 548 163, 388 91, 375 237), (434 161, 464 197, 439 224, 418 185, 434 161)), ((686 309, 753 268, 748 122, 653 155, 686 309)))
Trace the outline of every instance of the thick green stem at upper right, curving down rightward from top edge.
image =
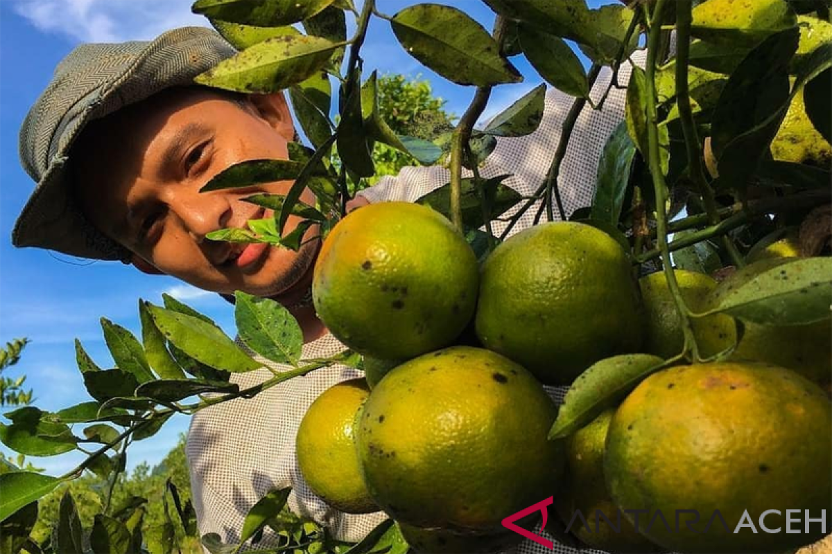
MULTIPOLYGON (((688 172, 693 183, 699 189, 702 203, 709 223, 720 223, 720 215, 716 206, 716 198, 711 184, 705 177, 705 159, 702 158, 702 144, 696 132, 696 124, 691 110, 691 91, 688 83, 688 60, 691 51, 691 22, 693 17, 691 0, 676 0, 676 105, 679 108, 679 120, 685 134, 687 148, 688 172)), ((728 252, 731 262, 736 267, 745 266, 745 262, 737 250, 736 245, 725 234, 722 235, 722 246, 728 252)))

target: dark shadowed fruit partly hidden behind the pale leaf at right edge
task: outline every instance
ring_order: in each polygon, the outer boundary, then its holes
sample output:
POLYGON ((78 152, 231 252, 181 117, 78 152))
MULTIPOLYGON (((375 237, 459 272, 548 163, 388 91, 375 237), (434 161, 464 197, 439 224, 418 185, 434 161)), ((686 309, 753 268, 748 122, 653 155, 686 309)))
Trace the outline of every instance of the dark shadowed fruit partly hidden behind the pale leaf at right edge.
MULTIPOLYGON (((788 258, 770 257, 750 263, 721 282, 713 294, 719 304, 729 292, 788 258)), ((745 332, 732 355, 736 360, 757 360, 781 365, 814 381, 832 394, 832 319, 808 325, 762 326, 745 322, 745 332)))

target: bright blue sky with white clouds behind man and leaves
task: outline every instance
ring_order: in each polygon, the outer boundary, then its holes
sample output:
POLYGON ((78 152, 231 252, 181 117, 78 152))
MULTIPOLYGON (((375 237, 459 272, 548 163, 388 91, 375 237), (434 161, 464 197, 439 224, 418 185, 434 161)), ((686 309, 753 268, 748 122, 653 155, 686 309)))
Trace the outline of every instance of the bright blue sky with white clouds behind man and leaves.
MULTIPOLYGON (((379 9, 392 15, 416 2, 380 0, 379 9)), ((479 0, 448 0, 490 28, 493 13, 479 0)), ((590 0, 591 7, 612 3, 590 0)), ((29 106, 46 86, 54 66, 79 42, 146 40, 172 27, 206 25, 191 14, 191 0, 4 0, 0 2, 0 281, 4 317, 0 341, 28 337, 32 342, 21 362, 5 375, 27 375, 41 409, 61 409, 90 400, 74 359, 73 339, 80 339, 100 365, 111 363, 102 339, 99 318, 104 316, 140 329, 137 299, 160 302, 168 292, 214 318, 233 335, 233 309, 213 294, 183 285, 169 277, 146 276, 119 262, 89 262, 38 249, 12 248, 10 235, 17 213, 33 184, 17 161, 17 130, 29 106)), ((447 109, 461 115, 473 90, 455 86, 425 70, 399 47, 389 23, 375 20, 364 45, 365 68, 422 76, 447 109)), ((517 58, 515 58, 517 60, 517 58)), ((541 81, 522 61, 526 80, 494 92, 485 118, 497 114, 541 81)), ((129 467, 141 460, 157 463, 186 431, 185 417, 172 419, 160 434, 131 446, 129 467)), ((2 450, 0 450, 2 451, 2 450)), ((32 458, 47 473, 59 474, 81 458, 32 458)))

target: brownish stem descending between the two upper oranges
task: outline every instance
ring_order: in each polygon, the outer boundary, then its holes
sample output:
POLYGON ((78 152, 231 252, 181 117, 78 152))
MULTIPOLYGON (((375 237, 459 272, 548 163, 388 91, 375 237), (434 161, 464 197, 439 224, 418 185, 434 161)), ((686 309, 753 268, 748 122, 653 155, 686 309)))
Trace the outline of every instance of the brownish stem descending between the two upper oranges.
MULTIPOLYGON (((508 21, 505 17, 498 16, 494 22, 493 37, 497 42, 498 51, 503 51, 503 43, 508 35, 508 21)), ((488 98, 491 97, 491 86, 478 86, 473 96, 471 105, 465 110, 459 119, 456 129, 453 130, 451 138, 451 222, 459 233, 464 233, 463 228, 463 207, 462 207, 462 182, 463 182, 463 153, 470 151, 469 141, 473 132, 473 125, 483 115, 485 106, 488 105, 488 98)), ((470 164, 477 164, 473 156, 468 156, 470 164)))

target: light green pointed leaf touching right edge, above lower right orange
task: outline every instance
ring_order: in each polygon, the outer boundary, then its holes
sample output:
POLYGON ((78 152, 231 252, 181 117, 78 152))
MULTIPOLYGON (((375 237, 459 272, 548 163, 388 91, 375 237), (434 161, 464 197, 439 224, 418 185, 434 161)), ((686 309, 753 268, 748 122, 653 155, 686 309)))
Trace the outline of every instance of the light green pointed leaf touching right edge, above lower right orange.
POLYGON ((832 257, 807 257, 761 272, 722 297, 715 312, 760 325, 805 325, 832 316, 832 257))

